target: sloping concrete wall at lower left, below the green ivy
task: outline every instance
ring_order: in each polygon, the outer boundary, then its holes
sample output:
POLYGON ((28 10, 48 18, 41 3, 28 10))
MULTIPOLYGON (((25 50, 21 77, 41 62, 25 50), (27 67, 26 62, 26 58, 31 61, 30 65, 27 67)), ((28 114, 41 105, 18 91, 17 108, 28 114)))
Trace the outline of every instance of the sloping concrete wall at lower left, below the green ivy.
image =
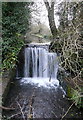
POLYGON ((3 75, 0 75, 0 120, 2 119, 2 109, 1 106, 4 103, 6 96, 8 94, 11 80, 15 76, 15 69, 10 71, 5 71, 3 75))

